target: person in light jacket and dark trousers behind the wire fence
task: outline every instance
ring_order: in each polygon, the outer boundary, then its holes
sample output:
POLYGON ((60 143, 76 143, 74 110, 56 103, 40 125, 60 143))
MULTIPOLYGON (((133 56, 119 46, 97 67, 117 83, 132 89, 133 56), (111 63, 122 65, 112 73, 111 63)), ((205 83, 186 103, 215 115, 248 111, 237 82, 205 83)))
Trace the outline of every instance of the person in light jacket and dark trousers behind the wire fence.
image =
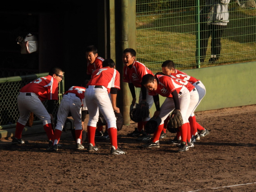
MULTIPOLYGON (((229 23, 230 0, 205 0, 200 11, 200 62, 205 61, 208 39, 211 36, 211 57, 209 63, 219 60, 224 29, 229 23)), ((196 54, 197 55, 197 54, 196 54)))

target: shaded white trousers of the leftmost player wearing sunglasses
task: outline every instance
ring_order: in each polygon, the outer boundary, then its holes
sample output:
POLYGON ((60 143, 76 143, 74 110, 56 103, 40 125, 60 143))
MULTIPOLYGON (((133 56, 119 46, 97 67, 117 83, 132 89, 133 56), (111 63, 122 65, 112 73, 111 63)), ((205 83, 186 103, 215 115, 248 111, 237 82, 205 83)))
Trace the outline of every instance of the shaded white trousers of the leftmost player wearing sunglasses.
POLYGON ((21 108, 19 109, 21 115, 18 119, 18 123, 27 123, 27 114, 29 117, 29 113, 27 113, 28 111, 33 112, 40 120, 42 120, 43 125, 50 123, 50 114, 35 93, 31 93, 31 96, 26 96, 26 93, 20 92, 18 102, 19 107, 21 108))

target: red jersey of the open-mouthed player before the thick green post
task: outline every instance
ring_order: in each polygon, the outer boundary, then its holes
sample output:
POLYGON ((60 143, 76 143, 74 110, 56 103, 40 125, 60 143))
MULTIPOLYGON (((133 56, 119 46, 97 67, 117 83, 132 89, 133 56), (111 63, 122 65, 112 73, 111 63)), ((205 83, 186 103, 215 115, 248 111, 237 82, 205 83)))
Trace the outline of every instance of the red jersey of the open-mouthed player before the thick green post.
POLYGON ((123 82, 133 83, 135 87, 142 87, 142 77, 146 74, 154 75, 144 64, 134 61, 132 68, 123 67, 123 82))

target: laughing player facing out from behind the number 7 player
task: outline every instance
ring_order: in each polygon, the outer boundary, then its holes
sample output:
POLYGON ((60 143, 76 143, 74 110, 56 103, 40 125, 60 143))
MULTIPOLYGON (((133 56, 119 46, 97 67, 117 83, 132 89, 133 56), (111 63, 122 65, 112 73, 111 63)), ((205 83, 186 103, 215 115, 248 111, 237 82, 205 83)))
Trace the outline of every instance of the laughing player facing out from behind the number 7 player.
MULTIPOLYGON (((92 73, 99 68, 102 68, 104 59, 98 56, 98 50, 95 46, 87 46, 85 56, 87 59, 87 79, 91 79, 92 73)), ((96 129, 95 137, 103 136, 103 126, 96 129)))

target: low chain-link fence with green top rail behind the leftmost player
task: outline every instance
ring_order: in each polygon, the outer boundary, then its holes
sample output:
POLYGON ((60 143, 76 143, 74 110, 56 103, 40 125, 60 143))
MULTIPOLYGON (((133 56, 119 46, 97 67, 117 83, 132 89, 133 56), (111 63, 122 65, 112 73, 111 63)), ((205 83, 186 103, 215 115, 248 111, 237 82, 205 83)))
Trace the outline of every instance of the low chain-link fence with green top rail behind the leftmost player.
MULTIPOLYGON (((19 118, 17 96, 19 90, 29 82, 41 77, 47 76, 48 73, 37 73, 25 76, 16 76, 10 78, 0 78, 0 126, 15 124, 19 118)), ((62 99, 64 90, 64 79, 59 83, 59 101, 55 101, 53 116, 59 108, 59 102, 62 99)), ((43 104, 47 107, 47 102, 43 104)), ((39 120, 36 116, 34 121, 39 120)))

